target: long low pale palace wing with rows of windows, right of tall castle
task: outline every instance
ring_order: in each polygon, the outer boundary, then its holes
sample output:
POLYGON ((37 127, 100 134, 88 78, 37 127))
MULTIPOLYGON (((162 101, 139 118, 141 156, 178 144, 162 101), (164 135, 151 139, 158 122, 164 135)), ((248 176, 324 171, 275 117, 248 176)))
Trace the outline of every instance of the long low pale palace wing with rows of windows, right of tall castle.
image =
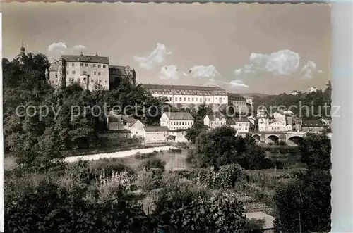
POLYGON ((239 94, 227 93, 220 87, 200 87, 181 85, 143 84, 152 96, 165 96, 172 104, 228 104, 242 108, 246 106, 246 99, 239 94))

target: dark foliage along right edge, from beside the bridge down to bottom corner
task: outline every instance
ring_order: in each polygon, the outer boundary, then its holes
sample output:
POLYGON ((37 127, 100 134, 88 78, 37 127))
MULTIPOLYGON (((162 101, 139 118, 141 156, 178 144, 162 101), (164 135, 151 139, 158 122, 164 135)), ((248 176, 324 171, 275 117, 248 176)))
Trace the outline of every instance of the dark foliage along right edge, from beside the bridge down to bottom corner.
POLYGON ((277 187, 277 232, 328 232, 331 225, 330 139, 325 134, 308 134, 299 148, 308 170, 297 175, 294 182, 277 187))

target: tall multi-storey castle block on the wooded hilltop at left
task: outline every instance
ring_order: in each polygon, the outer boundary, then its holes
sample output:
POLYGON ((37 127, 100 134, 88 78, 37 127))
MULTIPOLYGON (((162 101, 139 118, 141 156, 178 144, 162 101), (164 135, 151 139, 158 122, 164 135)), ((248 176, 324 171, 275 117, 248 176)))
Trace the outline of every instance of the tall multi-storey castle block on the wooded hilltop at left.
POLYGON ((65 87, 77 82, 83 88, 114 89, 121 80, 136 83, 136 72, 129 66, 109 65, 105 56, 63 55, 49 68, 49 84, 65 87))

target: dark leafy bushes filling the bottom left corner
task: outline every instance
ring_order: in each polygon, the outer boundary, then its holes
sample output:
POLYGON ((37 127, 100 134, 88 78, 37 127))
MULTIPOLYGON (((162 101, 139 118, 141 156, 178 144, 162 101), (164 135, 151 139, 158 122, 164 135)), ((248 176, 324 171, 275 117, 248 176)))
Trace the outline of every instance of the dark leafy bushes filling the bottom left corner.
POLYGON ((10 179, 5 232, 143 232, 148 222, 141 206, 126 201, 119 189, 102 199, 102 189, 69 179, 58 182, 47 174, 10 179))

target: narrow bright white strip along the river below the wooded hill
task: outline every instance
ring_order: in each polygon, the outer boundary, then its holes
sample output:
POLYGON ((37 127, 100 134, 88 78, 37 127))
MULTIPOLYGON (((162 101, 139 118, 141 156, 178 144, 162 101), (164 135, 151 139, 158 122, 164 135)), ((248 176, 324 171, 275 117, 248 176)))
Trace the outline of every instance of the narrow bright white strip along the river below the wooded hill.
POLYGON ((133 156, 136 153, 152 153, 153 151, 158 151, 158 152, 169 151, 169 149, 177 149, 177 147, 157 146, 157 147, 146 148, 146 149, 133 149, 128 151, 119 151, 119 152, 113 152, 113 153, 97 153, 97 154, 92 154, 87 156, 70 156, 65 158, 65 162, 73 163, 73 162, 77 162, 78 160, 98 160, 101 158, 124 158, 128 156, 133 156))

